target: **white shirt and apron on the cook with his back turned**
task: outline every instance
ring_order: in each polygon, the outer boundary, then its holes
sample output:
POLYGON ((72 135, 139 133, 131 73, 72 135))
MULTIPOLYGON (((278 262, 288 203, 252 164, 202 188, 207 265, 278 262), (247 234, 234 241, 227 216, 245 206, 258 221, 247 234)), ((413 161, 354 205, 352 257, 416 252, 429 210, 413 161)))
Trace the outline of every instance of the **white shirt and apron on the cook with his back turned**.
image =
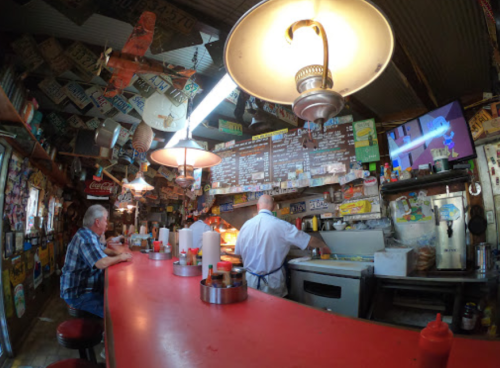
MULTIPOLYGON (((265 275, 281 267, 292 245, 306 249, 310 239, 310 235, 274 217, 271 211, 260 210, 241 228, 234 253, 241 255, 247 270, 265 275)), ((246 276, 248 286, 257 288, 258 277, 248 272, 246 276)), ((287 294, 284 270, 266 279, 269 285, 261 281, 259 290, 278 296, 287 294)))

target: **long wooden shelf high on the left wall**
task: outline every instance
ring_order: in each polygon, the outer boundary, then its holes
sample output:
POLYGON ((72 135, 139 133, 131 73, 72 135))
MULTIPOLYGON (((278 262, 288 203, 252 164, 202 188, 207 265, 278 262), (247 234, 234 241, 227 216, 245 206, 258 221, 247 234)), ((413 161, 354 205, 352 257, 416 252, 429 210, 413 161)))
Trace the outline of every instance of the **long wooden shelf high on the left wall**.
POLYGON ((2 88, 0 88, 0 121, 2 121, 2 129, 16 135, 16 138, 6 138, 16 151, 28 157, 31 163, 45 175, 53 178, 63 187, 67 185, 66 175, 59 170, 57 164, 50 159, 49 154, 38 143, 2 88))

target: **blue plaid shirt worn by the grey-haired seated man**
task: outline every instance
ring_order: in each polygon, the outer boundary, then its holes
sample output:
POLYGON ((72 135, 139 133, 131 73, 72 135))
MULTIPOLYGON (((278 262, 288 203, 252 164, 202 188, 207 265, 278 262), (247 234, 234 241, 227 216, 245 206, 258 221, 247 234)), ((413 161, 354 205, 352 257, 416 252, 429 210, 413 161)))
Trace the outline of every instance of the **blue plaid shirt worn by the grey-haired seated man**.
POLYGON ((103 252, 99 237, 82 227, 68 245, 61 276, 61 298, 73 299, 104 289, 104 271, 94 267, 103 252))

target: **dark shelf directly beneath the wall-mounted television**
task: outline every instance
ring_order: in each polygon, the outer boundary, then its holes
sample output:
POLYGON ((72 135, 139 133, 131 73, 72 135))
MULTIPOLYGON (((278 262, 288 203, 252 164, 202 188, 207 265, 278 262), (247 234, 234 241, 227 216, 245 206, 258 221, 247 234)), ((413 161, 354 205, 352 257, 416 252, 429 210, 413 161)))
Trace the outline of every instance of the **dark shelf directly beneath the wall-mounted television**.
POLYGON ((440 174, 426 175, 418 178, 400 180, 394 183, 383 184, 382 194, 397 194, 408 190, 420 190, 434 185, 450 183, 465 183, 469 181, 469 174, 465 170, 450 170, 440 174))

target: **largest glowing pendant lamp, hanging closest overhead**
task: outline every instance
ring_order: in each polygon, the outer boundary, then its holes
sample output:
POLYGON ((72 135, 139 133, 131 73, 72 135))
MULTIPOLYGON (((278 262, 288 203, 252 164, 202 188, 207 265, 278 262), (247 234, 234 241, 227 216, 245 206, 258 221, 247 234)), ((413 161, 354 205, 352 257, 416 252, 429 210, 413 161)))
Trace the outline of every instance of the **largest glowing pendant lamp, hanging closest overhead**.
POLYGON ((245 92, 322 123, 387 67, 391 25, 365 0, 268 0, 231 30, 224 63, 245 92))

